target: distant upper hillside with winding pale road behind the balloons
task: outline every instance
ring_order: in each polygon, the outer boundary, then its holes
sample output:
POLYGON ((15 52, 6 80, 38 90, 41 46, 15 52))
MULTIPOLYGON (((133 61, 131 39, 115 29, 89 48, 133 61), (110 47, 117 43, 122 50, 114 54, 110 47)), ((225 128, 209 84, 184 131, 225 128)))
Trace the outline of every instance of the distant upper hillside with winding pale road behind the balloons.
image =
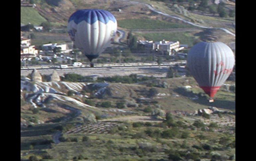
MULTIPOLYGON (((225 28, 235 34, 235 17, 220 18, 217 14, 210 14, 209 9, 204 12, 197 10, 191 11, 188 10, 188 6, 191 6, 191 4, 187 2, 173 3, 167 1, 160 2, 157 0, 36 0, 35 4, 36 7, 33 9, 31 7, 22 7, 23 10, 25 10, 21 11, 22 15, 25 15, 23 12, 31 12, 29 10, 34 10, 33 12, 37 11, 35 14, 26 14, 27 20, 21 20, 23 23, 28 22, 28 20, 33 20, 34 15, 40 15, 41 18, 43 17, 45 20, 51 22, 54 28, 64 28, 65 30, 67 20, 73 12, 78 9, 97 8, 111 12, 118 21, 118 29, 125 32, 133 30, 133 34, 138 36, 139 40, 162 40, 160 38, 164 36, 165 40, 179 40, 183 44, 192 46, 193 43, 200 40, 200 36, 203 35, 203 33, 205 34, 205 29, 198 26, 225 28), (197 26, 185 23, 177 19, 177 17, 189 23, 194 23, 197 26), (191 32, 190 28, 196 28, 197 30, 191 32), (141 33, 142 31, 136 31, 138 29, 150 29, 153 31, 141 33), (169 29, 168 32, 166 32, 166 29, 169 29), (177 32, 177 34, 175 35, 169 32, 177 32), (181 36, 181 38, 179 36, 181 36)), ((212 3, 208 1, 208 6, 210 5, 212 5, 212 3)), ((226 2, 226 12, 234 8, 235 3, 226 2)), ((23 17, 24 16, 22 16, 22 19, 25 19, 23 17)), ((43 21, 39 18, 36 20, 37 21, 33 21, 32 23, 38 24, 43 21)), ((235 42, 234 36, 222 30, 215 30, 214 35, 217 36, 218 41, 222 41, 226 44, 235 42)), ((41 44, 38 43, 40 40, 35 41, 36 44, 41 44)), ((125 40, 122 41, 125 42, 125 40)))

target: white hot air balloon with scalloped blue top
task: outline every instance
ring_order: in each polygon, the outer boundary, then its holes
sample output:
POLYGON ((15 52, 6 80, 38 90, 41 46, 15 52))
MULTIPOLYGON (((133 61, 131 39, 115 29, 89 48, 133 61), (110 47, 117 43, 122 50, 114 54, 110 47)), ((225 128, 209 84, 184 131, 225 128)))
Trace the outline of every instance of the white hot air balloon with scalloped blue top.
POLYGON ((85 9, 74 12, 67 25, 68 35, 90 60, 97 58, 114 40, 117 21, 108 11, 85 9))

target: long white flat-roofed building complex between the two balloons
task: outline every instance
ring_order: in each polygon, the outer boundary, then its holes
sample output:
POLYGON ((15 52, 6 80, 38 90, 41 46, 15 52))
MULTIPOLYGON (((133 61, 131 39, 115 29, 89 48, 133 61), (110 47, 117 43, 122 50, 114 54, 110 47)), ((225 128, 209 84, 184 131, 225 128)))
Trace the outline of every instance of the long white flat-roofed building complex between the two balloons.
POLYGON ((162 52, 162 54, 164 52, 167 52, 169 55, 173 54, 173 51, 177 52, 182 50, 184 47, 180 46, 180 42, 179 41, 166 41, 166 40, 162 40, 162 41, 139 41, 138 44, 140 45, 144 45, 144 48, 146 50, 150 50, 150 51, 160 51, 162 52))

